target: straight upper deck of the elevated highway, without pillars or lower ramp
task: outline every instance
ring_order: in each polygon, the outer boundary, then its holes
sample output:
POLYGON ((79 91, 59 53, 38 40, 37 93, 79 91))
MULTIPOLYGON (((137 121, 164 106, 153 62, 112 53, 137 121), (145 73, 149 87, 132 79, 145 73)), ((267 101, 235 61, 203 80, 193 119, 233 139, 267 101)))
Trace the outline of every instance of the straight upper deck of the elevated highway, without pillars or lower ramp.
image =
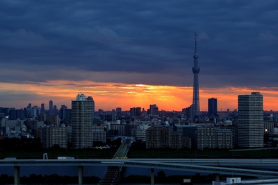
POLYGON ((0 166, 133 166, 145 168, 146 164, 181 166, 278 166, 278 159, 0 159, 0 166), (118 165, 119 164, 119 165, 118 165), (124 165, 120 165, 124 164, 124 165))

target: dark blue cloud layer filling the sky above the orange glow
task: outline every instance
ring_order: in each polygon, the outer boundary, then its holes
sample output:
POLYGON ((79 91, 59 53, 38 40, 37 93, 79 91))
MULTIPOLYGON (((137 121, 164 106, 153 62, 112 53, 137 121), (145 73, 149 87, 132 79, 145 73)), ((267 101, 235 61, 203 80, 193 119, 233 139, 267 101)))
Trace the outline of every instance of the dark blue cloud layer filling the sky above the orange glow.
POLYGON ((275 0, 4 0, 0 77, 190 86, 197 31, 200 87, 275 87, 277 10, 275 0))

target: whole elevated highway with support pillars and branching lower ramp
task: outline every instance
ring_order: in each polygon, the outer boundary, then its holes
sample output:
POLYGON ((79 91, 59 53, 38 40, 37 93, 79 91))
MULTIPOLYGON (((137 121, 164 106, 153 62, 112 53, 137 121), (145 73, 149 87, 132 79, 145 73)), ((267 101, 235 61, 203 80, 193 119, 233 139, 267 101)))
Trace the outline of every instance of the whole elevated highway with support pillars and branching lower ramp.
POLYGON ((79 184, 82 184, 83 166, 125 166, 220 175, 278 177, 278 171, 270 169, 278 166, 278 159, 2 159, 0 166, 14 166, 15 182, 19 182, 20 166, 76 166, 79 169, 79 184))

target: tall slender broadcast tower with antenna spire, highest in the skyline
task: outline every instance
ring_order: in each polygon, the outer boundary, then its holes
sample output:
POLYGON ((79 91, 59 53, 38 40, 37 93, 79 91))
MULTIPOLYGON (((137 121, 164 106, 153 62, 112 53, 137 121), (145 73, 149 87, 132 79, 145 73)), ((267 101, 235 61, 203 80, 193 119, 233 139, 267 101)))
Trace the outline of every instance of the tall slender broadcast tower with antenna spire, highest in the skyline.
POLYGON ((193 81, 193 120, 198 120, 200 117, 200 108, 199 108, 199 70, 198 67, 198 54, 197 54, 197 33, 195 33, 195 55, 194 58, 194 67, 192 71, 194 73, 193 81))

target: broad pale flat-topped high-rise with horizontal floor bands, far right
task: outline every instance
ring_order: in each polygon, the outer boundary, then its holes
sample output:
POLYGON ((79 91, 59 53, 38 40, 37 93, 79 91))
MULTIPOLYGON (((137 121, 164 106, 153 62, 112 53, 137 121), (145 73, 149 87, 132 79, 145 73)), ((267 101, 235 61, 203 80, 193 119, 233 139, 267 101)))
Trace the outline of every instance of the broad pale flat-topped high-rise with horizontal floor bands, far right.
POLYGON ((263 95, 238 96, 238 146, 263 147, 263 95))

